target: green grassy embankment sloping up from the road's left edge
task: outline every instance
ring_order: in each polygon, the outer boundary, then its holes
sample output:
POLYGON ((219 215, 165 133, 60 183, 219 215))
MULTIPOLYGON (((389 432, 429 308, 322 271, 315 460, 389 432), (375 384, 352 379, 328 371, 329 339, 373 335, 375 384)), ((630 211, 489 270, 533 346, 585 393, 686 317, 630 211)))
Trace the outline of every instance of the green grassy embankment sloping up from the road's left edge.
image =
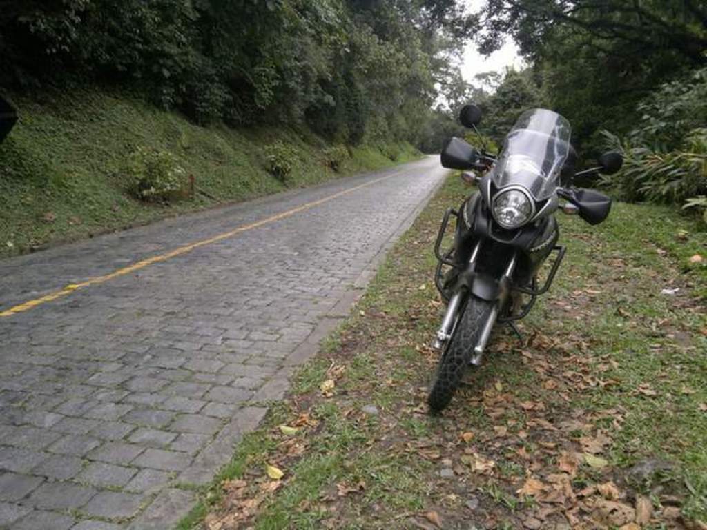
POLYGON ((374 170, 419 154, 409 144, 351 148, 350 158, 334 172, 324 155, 329 146, 308 131, 201 127, 139 100, 100 92, 45 98, 13 98, 21 120, 0 144, 0 257, 374 170), (264 160, 264 146, 278 140, 296 153, 284 182, 267 172, 264 160), (124 170, 139 147, 176 155, 196 179, 194 199, 168 206, 133 199, 124 170))

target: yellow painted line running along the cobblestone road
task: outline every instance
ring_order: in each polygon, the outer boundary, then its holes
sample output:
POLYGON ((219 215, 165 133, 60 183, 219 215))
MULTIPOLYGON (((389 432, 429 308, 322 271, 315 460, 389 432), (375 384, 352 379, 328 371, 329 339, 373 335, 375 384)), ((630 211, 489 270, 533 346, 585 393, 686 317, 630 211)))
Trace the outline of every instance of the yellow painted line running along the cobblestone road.
POLYGON ((316 201, 308 202, 307 204, 303 204, 302 206, 298 206, 297 208, 292 208, 291 210, 288 210, 288 211, 276 213, 274 216, 270 216, 268 218, 256 221, 255 223, 250 223, 248 225, 239 226, 238 228, 235 228, 234 230, 230 230, 228 232, 223 232, 223 233, 216 235, 214 237, 209 237, 209 239, 197 241, 195 243, 191 243, 190 245, 185 245, 184 247, 178 247, 178 248, 176 248, 170 252, 167 252, 165 254, 158 254, 157 256, 153 256, 148 259, 136 261, 132 265, 124 267, 123 269, 117 269, 117 271, 113 271, 112 273, 106 274, 105 276, 98 276, 96 278, 90 278, 89 280, 83 281, 81 283, 74 283, 71 285, 66 285, 66 287, 64 287, 63 289, 54 291, 54 293, 49 293, 48 295, 42 296, 42 298, 35 298, 35 300, 29 300, 28 302, 23 302, 19 305, 10 307, 7 310, 0 311, 0 317, 11 317, 13 314, 21 313, 23 311, 29 311, 29 310, 33 309, 34 307, 37 307, 38 305, 42 305, 46 302, 52 302, 52 300, 57 300, 57 298, 62 298, 63 296, 70 295, 71 293, 74 293, 75 290, 83 289, 85 287, 89 287, 90 285, 98 285, 99 283, 105 283, 109 280, 112 280, 113 278, 118 278, 119 276, 125 276, 126 274, 132 273, 134 271, 139 271, 140 269, 144 269, 148 265, 159 263, 160 261, 167 261, 168 259, 172 259, 173 257, 180 256, 181 254, 186 254, 187 252, 191 252, 192 250, 197 249, 199 247, 204 247, 205 245, 211 245, 212 243, 216 243, 218 241, 228 239, 229 237, 233 237, 233 236, 238 235, 242 232, 246 232, 247 230, 252 230, 253 228, 258 228, 259 226, 262 226, 262 225, 267 225, 268 223, 274 223, 277 220, 281 220, 286 217, 293 216, 296 213, 299 213, 300 211, 308 210, 309 208, 313 208, 313 207, 318 206, 320 204, 324 204, 325 202, 332 201, 333 199, 337 199, 338 197, 340 197, 342 195, 356 192, 356 190, 358 190, 358 189, 365 188, 367 186, 371 186, 371 185, 376 184, 382 180, 388 179, 390 177, 395 177, 396 175, 399 175, 399 174, 400 174, 400 171, 397 171, 397 172, 393 173, 392 175, 380 177, 379 179, 371 180, 370 182, 366 182, 365 184, 359 184, 358 186, 354 186, 353 188, 344 189, 341 192, 337 192, 333 195, 326 196, 322 199, 317 199, 316 201))

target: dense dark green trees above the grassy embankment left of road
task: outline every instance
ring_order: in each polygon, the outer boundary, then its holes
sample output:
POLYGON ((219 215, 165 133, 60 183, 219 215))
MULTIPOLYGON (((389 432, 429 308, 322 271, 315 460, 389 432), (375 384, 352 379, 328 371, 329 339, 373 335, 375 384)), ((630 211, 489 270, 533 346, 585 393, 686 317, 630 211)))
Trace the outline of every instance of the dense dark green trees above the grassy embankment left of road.
POLYGON ((0 0, 0 87, 117 85, 199 122, 416 141, 456 0, 0 0))

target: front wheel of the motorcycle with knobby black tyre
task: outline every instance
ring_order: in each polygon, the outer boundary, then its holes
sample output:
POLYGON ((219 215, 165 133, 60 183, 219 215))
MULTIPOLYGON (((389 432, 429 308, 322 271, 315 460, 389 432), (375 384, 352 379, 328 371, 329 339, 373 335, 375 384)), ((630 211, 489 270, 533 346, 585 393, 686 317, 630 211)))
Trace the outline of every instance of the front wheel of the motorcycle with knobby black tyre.
POLYGON ((427 398, 427 404, 432 411, 441 411, 452 401, 452 396, 467 371, 474 347, 479 343, 481 329, 489 319, 493 303, 469 295, 454 336, 440 359, 437 378, 427 398))

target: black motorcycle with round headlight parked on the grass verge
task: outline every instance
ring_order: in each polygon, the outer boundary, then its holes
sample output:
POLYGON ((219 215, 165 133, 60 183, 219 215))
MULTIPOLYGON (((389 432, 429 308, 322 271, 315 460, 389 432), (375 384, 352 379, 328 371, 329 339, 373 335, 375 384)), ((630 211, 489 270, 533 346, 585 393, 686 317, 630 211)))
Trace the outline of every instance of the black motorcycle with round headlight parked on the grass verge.
MULTIPOLYGON (((481 110, 465 106, 460 121, 477 131, 481 110)), ((609 215, 609 197, 572 182, 574 177, 619 171, 621 155, 604 153, 599 167, 575 173, 577 156, 570 137, 565 118, 534 109, 521 114, 498 155, 485 148, 477 151, 458 138, 445 144, 442 165, 474 170, 462 178, 476 183, 479 191, 459 211, 445 213, 435 245, 435 283, 447 310, 433 343, 443 351, 428 397, 433 411, 449 404, 467 367, 481 364, 493 326, 508 323, 520 336, 514 322, 550 288, 565 256, 565 247, 557 245, 554 213, 577 213, 591 225, 609 215), (441 247, 452 217, 454 243, 445 252, 441 247), (554 261, 541 287, 538 274, 551 254, 554 261)))

